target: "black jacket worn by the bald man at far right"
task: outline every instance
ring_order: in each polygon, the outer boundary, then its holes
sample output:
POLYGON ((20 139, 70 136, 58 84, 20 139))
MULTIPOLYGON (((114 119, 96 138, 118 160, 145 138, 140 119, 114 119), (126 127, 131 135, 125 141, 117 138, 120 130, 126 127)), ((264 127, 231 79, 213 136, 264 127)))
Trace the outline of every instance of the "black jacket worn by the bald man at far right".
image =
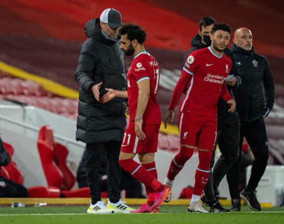
POLYGON ((266 57, 254 49, 246 51, 232 44, 232 51, 239 66, 242 85, 234 90, 241 122, 263 116, 264 108, 271 111, 274 105, 274 79, 266 57))

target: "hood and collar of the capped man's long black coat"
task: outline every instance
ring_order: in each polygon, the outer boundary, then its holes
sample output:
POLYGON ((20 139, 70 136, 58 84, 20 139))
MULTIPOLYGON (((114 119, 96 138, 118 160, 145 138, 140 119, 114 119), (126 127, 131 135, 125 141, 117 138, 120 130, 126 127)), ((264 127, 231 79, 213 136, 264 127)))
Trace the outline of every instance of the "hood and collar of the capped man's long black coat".
POLYGON ((119 38, 117 38, 116 40, 111 39, 111 38, 106 38, 101 31, 101 27, 100 27, 100 18, 95 18, 95 19, 91 19, 89 20, 86 25, 85 25, 85 35, 89 38, 89 37, 93 37, 96 38, 102 42, 105 43, 109 43, 109 44, 113 44, 114 42, 119 41, 119 38))

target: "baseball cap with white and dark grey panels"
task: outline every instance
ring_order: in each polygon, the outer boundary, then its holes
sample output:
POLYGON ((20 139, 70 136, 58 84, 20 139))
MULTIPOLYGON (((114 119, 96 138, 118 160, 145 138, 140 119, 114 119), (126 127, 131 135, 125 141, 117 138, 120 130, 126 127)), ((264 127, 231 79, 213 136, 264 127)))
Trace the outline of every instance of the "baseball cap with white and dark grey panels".
POLYGON ((121 13, 114 8, 105 9, 100 16, 100 20, 107 23, 111 28, 123 25, 121 13))

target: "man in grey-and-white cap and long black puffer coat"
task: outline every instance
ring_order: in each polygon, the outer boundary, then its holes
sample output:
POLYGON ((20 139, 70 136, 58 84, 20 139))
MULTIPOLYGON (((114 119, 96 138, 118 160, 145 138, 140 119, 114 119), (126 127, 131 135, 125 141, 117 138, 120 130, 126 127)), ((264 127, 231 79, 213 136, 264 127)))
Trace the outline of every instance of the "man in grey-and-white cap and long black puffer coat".
POLYGON ((121 25, 121 13, 113 8, 105 9, 100 18, 88 21, 85 26, 88 39, 82 45, 76 70, 80 87, 76 139, 86 143, 86 177, 92 199, 87 213, 129 213, 132 210, 120 200, 119 154, 126 127, 126 100, 116 98, 106 104, 96 100, 106 93, 105 88, 127 88, 118 38, 121 25), (108 205, 102 201, 100 190, 103 150, 107 150, 108 205))

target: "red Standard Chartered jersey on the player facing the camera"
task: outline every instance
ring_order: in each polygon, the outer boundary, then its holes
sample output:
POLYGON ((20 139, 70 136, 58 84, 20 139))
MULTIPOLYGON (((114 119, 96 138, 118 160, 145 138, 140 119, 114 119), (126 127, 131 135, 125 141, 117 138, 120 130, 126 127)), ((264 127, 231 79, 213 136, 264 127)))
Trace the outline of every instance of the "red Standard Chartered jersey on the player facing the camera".
POLYGON ((225 83, 231 67, 231 58, 225 54, 216 55, 211 46, 190 53, 175 86, 169 110, 175 108, 188 83, 179 111, 216 119, 219 96, 225 101, 232 100, 225 83))

